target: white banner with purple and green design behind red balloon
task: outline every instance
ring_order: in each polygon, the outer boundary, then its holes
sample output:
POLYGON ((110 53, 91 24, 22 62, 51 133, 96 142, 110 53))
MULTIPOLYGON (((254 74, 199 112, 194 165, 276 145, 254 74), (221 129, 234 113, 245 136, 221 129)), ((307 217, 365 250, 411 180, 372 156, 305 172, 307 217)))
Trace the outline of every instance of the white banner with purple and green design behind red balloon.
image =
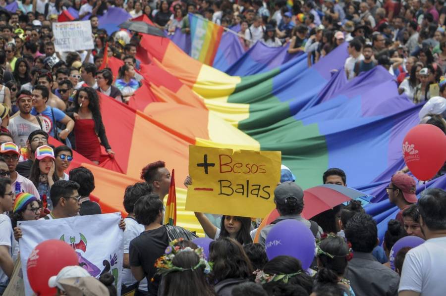
MULTIPOLYGON (((33 295, 26 274, 28 257, 38 244, 47 240, 61 240, 71 245, 79 257, 79 264, 99 278, 102 272, 115 277, 120 295, 123 253, 123 231, 119 228, 120 213, 76 216, 38 221, 20 221, 19 240, 25 294, 33 295)), ((51 264, 51 262, 48 262, 51 264)))

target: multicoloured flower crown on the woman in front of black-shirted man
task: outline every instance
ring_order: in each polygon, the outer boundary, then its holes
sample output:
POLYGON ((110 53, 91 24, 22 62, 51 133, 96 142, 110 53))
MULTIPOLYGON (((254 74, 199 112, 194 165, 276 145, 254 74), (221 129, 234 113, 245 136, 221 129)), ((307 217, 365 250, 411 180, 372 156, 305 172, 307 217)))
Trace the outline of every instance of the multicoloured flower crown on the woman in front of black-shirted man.
POLYGON ((169 246, 166 248, 165 254, 157 259, 155 262, 155 267, 158 268, 157 273, 159 275, 166 275, 170 272, 174 271, 186 271, 186 270, 195 270, 201 266, 204 267, 204 273, 209 274, 212 271, 212 265, 205 259, 204 250, 202 247, 197 249, 192 249, 191 247, 181 248, 180 246, 175 246, 178 242, 183 241, 183 238, 179 238, 177 240, 173 240, 170 242, 169 246), (191 268, 182 268, 173 265, 172 261, 176 254, 182 251, 192 251, 195 252, 200 261, 198 261, 197 265, 192 266, 191 268))

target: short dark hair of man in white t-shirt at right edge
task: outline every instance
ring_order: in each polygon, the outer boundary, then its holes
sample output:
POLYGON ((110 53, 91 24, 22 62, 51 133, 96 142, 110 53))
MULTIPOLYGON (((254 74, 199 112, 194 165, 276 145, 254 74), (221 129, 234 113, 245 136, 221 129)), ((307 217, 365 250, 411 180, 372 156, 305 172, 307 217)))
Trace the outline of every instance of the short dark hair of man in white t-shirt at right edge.
POLYGON ((440 188, 426 189, 418 199, 418 211, 430 230, 446 229, 446 192, 440 188))

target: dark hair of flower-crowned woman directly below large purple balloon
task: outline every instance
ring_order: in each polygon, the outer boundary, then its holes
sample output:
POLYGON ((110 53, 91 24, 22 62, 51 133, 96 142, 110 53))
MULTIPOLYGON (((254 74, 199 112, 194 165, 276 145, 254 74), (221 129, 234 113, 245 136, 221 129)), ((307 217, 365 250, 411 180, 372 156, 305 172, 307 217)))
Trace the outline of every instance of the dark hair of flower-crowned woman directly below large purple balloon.
POLYGON ((290 277, 287 283, 282 281, 271 281, 263 284, 263 289, 268 292, 268 295, 302 295, 294 293, 300 287, 308 294, 311 294, 313 289, 313 279, 302 270, 302 264, 294 257, 283 255, 277 256, 265 264, 263 271, 270 275, 300 272, 300 274, 290 277))

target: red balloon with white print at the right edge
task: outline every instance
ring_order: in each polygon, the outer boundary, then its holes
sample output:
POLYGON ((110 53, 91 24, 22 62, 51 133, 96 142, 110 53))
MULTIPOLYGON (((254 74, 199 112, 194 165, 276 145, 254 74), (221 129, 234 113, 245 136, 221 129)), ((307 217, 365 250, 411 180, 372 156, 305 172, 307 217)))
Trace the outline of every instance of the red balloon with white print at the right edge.
POLYGON ((446 161, 445 133, 432 124, 419 124, 404 137, 404 161, 418 180, 432 179, 446 161))

